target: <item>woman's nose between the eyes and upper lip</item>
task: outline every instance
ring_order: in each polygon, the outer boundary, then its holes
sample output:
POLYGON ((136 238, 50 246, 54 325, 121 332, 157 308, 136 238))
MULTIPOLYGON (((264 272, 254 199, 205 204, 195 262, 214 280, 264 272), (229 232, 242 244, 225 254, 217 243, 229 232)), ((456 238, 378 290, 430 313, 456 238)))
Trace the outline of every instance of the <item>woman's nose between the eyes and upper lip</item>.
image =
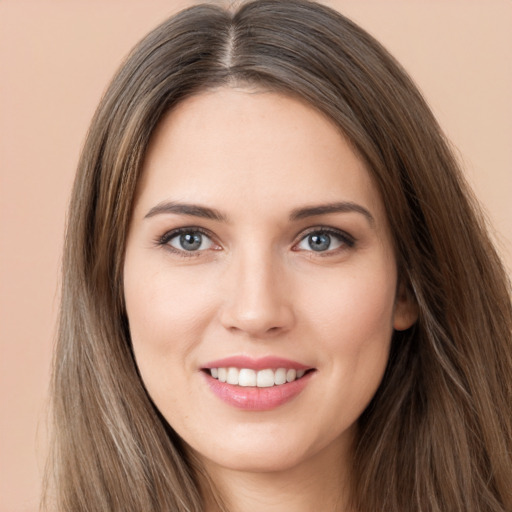
POLYGON ((232 262, 220 319, 232 333, 270 338, 295 323, 285 272, 271 256, 250 254, 232 262))

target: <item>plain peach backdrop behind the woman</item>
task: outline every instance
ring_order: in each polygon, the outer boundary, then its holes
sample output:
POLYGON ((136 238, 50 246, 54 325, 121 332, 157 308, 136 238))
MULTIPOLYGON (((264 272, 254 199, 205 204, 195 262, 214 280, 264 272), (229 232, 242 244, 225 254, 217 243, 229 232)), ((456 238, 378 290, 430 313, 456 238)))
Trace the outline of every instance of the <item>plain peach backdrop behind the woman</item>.
MULTIPOLYGON (((189 1, 0 2, 0 512, 37 510, 67 198, 121 58, 189 1)), ((512 2, 329 2, 416 79, 512 268, 512 2)))

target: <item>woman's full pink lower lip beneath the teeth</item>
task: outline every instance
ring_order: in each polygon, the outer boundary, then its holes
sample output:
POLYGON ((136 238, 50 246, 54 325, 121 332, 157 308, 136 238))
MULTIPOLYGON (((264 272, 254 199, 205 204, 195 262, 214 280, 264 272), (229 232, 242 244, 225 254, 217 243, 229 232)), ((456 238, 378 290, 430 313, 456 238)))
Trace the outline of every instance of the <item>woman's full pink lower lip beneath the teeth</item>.
POLYGON ((223 402, 247 411, 269 411, 295 398, 309 383, 308 372, 300 379, 269 388, 234 386, 203 373, 210 389, 223 402))

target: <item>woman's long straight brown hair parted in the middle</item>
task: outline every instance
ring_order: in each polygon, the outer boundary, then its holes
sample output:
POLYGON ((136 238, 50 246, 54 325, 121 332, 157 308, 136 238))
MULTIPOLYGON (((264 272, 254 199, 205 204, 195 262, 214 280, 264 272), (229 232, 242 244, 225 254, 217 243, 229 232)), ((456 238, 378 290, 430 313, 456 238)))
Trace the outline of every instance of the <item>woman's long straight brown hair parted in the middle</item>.
POLYGON ((382 384, 359 420, 354 508, 510 512, 506 273, 407 74, 361 28, 305 0, 182 11, 136 46, 102 99, 69 210, 47 501, 73 512, 202 510, 201 468, 137 372, 122 269, 159 120, 184 98, 231 84, 301 97, 340 127, 380 190, 400 279, 418 304, 416 324, 394 334, 382 384))

